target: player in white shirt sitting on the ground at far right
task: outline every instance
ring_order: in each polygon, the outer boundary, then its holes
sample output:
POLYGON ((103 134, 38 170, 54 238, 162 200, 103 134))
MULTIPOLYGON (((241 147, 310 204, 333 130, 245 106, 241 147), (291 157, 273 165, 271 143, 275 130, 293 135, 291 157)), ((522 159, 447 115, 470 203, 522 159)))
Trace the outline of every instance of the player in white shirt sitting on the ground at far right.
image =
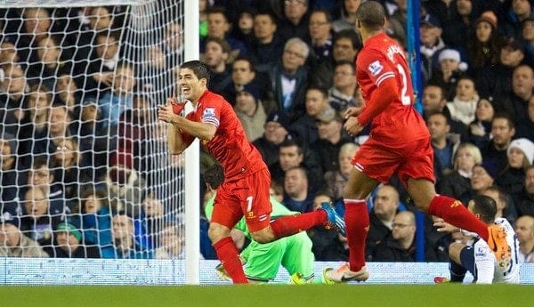
MULTIPOLYGON (((476 234, 468 233, 470 236, 474 236, 470 241, 467 243, 453 242, 449 246, 450 279, 436 277, 434 282, 462 282, 465 278, 465 272, 469 271, 473 274, 473 282, 477 284, 491 284, 493 282, 519 284, 519 263, 517 257, 519 241, 515 236, 510 222, 502 217, 495 218, 497 214, 495 200, 484 195, 477 195, 469 201, 467 208, 487 225, 496 223, 506 229, 506 241, 511 248, 512 255, 510 261, 499 266, 499 262, 495 258, 495 254, 492 253, 488 243, 478 238, 476 234)), ((434 225, 438 226, 441 231, 460 231, 444 222, 437 222, 434 225)))

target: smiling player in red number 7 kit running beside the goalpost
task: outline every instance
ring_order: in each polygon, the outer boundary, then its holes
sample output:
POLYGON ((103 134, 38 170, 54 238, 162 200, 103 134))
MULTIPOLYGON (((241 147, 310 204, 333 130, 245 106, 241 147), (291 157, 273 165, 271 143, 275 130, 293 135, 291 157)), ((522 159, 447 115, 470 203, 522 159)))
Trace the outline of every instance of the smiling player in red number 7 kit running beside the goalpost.
POLYGON ((260 152, 247 136, 231 104, 207 89, 209 69, 202 61, 187 61, 179 70, 178 83, 183 98, 193 111, 181 117, 183 103, 175 98, 158 109, 158 119, 168 123, 168 146, 180 154, 198 138, 221 163, 224 182, 217 190, 209 225, 217 257, 234 283, 247 283, 247 277, 233 243, 230 230, 245 216, 248 230, 258 243, 287 237, 315 225, 326 224, 343 232, 344 221, 332 206, 307 214, 283 216, 271 222, 269 187, 271 174, 260 152))

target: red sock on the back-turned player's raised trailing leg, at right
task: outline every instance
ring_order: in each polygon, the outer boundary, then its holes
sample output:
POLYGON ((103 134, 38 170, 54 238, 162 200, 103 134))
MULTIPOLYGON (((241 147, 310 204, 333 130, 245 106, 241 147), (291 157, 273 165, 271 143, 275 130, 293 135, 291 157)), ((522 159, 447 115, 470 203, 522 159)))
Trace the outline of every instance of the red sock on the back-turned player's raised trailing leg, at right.
POLYGON ((445 222, 463 230, 476 232, 484 241, 488 241, 488 226, 470 213, 457 199, 436 195, 428 206, 428 214, 439 216, 445 222))

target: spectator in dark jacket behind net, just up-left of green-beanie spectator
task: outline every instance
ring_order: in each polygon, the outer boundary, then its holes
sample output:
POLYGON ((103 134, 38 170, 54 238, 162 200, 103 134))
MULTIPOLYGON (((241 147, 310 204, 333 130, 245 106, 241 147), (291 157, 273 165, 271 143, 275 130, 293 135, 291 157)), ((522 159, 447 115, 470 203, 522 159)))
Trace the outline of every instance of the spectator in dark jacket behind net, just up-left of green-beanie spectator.
POLYGON ((61 199, 52 199, 44 190, 29 187, 22 198, 20 230, 35 240, 50 255, 53 230, 65 217, 66 208, 61 199))

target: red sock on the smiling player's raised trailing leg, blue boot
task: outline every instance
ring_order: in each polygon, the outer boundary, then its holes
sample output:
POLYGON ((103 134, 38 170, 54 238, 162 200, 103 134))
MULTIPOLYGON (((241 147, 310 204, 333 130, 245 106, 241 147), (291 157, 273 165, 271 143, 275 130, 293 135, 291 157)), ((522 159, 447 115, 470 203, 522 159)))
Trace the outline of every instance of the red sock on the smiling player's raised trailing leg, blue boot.
POLYGON ((287 215, 271 222, 271 230, 276 238, 294 235, 313 226, 327 222, 327 213, 316 210, 306 214, 287 215))

